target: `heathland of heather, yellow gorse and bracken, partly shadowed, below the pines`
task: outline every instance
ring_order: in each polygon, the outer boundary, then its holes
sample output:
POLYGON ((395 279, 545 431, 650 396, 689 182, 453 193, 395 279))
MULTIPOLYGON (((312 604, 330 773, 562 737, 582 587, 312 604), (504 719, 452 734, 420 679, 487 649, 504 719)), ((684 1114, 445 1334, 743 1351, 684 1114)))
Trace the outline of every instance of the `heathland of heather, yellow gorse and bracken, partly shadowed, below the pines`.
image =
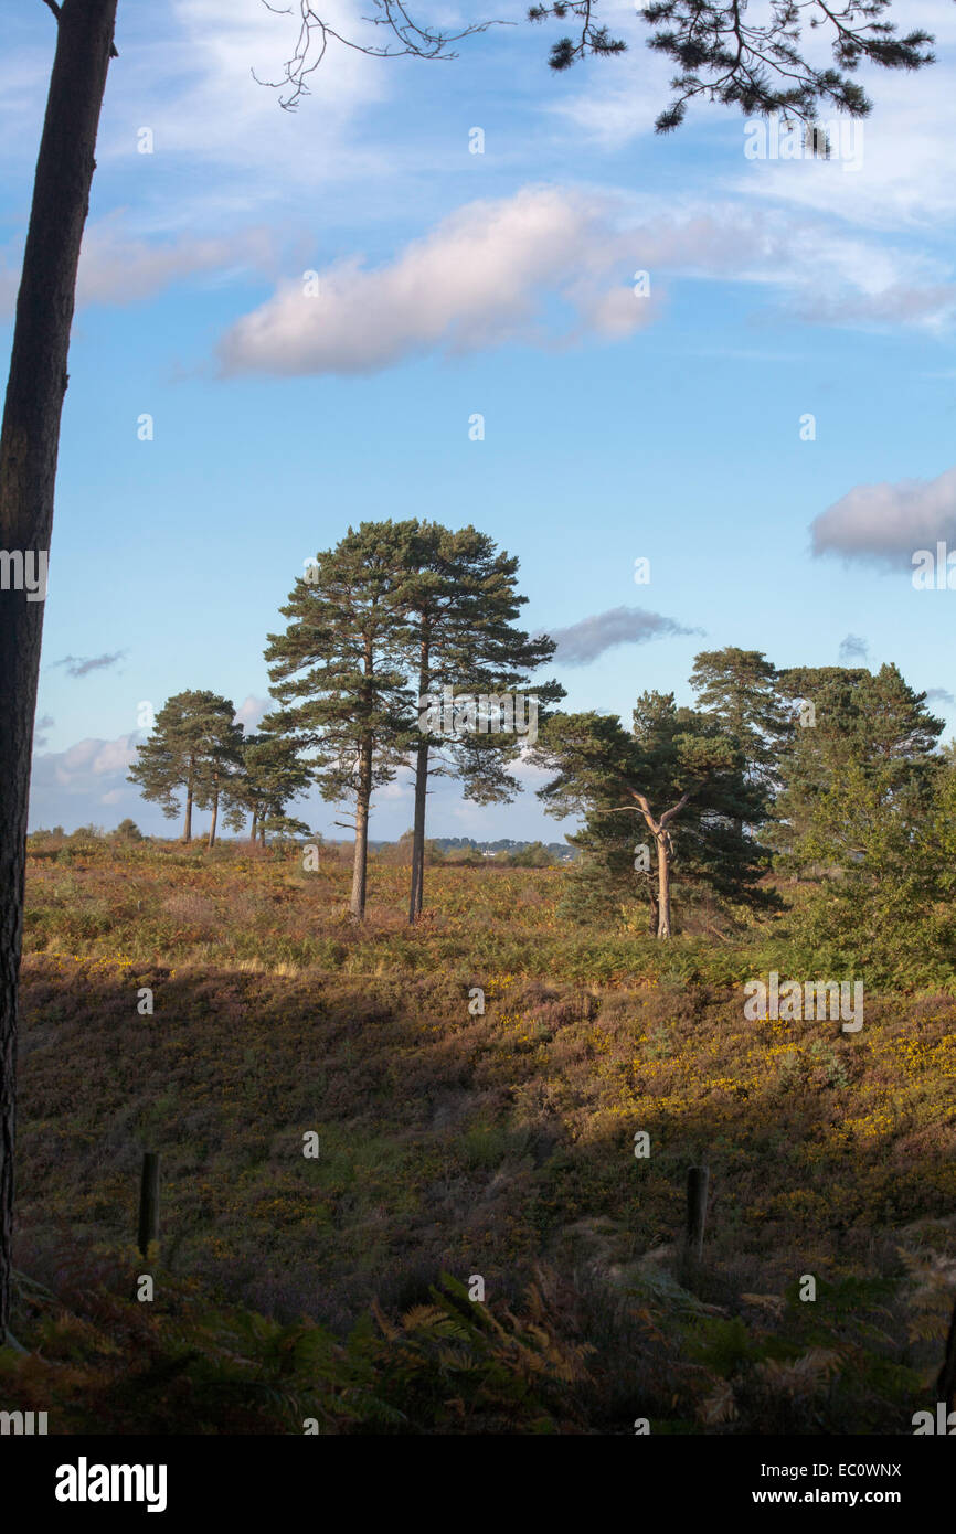
POLYGON ((956 1281, 956 1000, 867 994, 858 1034, 747 1022, 786 914, 568 933, 565 870, 436 867, 410 930, 407 870, 376 861, 356 928, 335 850, 301 867, 34 847, 8 1408, 54 1433, 911 1433, 956 1281))

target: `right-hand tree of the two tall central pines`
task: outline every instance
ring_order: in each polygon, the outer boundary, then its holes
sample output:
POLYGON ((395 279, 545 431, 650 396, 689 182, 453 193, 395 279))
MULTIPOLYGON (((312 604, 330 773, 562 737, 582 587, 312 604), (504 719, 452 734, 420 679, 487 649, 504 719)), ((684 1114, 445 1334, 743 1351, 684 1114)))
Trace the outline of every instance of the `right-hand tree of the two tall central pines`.
MULTIPOLYGON (((554 655, 552 640, 532 638, 514 624, 528 600, 517 592, 517 558, 499 552, 494 542, 473 526, 453 532, 439 523, 422 522, 411 529, 405 545, 397 601, 405 615, 404 646, 417 676, 420 707, 414 746, 410 922, 422 913, 430 775, 460 778, 465 798, 477 804, 509 802, 519 787, 508 765, 520 755, 523 736, 497 729, 502 721, 494 709, 491 716, 476 713, 471 727, 447 733, 447 715, 451 713, 451 727, 457 715, 443 706, 445 689, 451 689, 451 696, 513 696, 529 686, 528 673, 554 655), (428 709, 425 700, 442 700, 440 710, 428 709), (442 733, 428 727, 436 723, 430 721, 434 712, 442 721, 442 733)), ((534 696, 537 716, 543 719, 546 706, 563 698, 565 689, 548 681, 534 687, 534 696)))

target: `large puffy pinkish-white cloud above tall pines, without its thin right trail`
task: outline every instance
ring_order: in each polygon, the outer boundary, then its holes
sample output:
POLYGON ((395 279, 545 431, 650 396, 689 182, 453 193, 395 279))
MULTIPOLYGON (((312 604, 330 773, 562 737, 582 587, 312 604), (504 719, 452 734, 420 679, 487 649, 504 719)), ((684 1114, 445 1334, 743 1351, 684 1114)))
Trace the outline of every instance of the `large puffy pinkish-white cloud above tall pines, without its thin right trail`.
POLYGON ((602 201, 525 187, 470 202, 385 267, 361 258, 302 278, 238 321, 221 344, 224 373, 371 373, 420 351, 456 354, 505 341, 549 344, 542 307, 572 311, 565 339, 629 334, 652 301, 625 287, 632 244, 602 201), (615 291, 617 288, 617 291, 615 291))

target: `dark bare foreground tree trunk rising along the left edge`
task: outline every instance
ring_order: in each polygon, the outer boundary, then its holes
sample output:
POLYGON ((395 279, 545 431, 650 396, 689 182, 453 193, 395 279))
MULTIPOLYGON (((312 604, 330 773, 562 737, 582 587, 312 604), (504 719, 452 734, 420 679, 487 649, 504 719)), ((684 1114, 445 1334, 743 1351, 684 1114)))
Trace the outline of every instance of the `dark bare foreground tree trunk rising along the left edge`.
MULTIPOLYGON (((46 569, 77 264, 117 0, 63 0, 17 295, 3 426, 0 540, 46 569)), ((40 583, 35 595, 43 592, 40 583)), ((43 600, 0 595, 0 1342, 9 1324, 15 1054, 29 770, 43 600)))

